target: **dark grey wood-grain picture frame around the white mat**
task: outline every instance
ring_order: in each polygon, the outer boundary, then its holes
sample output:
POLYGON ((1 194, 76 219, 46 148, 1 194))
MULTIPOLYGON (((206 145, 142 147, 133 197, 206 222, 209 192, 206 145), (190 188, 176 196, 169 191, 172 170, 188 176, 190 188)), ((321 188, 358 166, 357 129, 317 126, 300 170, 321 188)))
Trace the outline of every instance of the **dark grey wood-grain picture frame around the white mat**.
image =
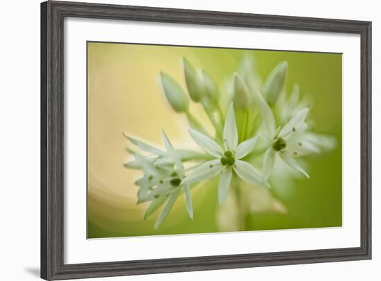
POLYGON ((371 22, 94 3, 41 4, 41 277, 46 280, 371 259, 371 22), (272 28, 361 37, 361 245, 311 251, 64 264, 64 18, 272 28))

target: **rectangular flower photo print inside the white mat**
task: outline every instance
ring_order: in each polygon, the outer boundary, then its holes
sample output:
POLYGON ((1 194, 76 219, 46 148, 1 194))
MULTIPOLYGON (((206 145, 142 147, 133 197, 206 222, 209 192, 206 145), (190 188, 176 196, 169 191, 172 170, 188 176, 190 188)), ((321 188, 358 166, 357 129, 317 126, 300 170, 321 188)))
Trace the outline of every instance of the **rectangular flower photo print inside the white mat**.
POLYGON ((342 54, 87 42, 87 238, 342 226, 342 54))

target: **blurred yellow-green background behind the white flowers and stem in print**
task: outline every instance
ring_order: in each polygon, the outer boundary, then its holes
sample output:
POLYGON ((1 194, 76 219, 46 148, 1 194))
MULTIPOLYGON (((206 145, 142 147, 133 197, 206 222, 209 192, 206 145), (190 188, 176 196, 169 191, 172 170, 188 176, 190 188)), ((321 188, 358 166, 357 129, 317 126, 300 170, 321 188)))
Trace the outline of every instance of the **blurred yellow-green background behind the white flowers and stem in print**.
MULTIPOLYGON (((292 192, 274 188, 272 196, 287 212, 261 210, 247 221, 247 230, 342 226, 342 55, 290 51, 238 50, 88 42, 88 238, 214 233, 218 226, 217 181, 192 190, 194 217, 188 218, 181 197, 163 225, 157 215, 143 220, 148 205, 136 205, 140 171, 123 167, 129 159, 122 132, 161 145, 163 128, 178 148, 196 147, 188 136, 186 118, 176 114, 159 84, 159 71, 186 89, 181 57, 204 68, 221 89, 244 55, 255 57, 265 79, 279 62, 288 62, 286 91, 298 83, 301 96, 312 101, 310 116, 316 132, 335 136, 332 152, 308 157, 310 179, 293 181, 292 192)), ((222 93, 223 94, 223 93, 222 93)), ((200 120, 204 112, 190 107, 200 120)))

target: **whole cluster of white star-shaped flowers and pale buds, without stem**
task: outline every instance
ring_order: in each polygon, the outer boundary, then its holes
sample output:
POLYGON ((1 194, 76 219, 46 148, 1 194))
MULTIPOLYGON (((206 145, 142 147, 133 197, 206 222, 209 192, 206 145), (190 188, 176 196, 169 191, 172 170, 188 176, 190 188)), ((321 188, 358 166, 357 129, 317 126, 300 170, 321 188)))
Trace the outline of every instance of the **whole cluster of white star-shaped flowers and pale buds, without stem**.
POLYGON ((206 71, 196 71, 185 58, 183 65, 188 95, 166 73, 160 73, 161 84, 172 109, 186 114, 190 137, 202 152, 175 149, 163 130, 165 149, 124 134, 138 148, 129 149, 134 160, 125 167, 143 172, 135 184, 139 186, 138 203, 151 202, 145 218, 166 203, 155 228, 166 219, 182 193, 188 215, 193 219, 190 190, 202 181, 219 177, 218 201, 222 203, 233 181, 238 188, 240 181, 270 188, 268 180, 276 161, 309 178, 296 158, 335 146, 332 137, 313 132, 307 121, 309 107, 299 100, 299 87, 296 85, 289 96, 283 90, 287 62, 278 64, 261 84, 252 60, 245 57, 237 73, 231 76, 225 95, 220 94, 206 71), (204 108, 214 127, 213 134, 190 113, 188 96, 204 108))

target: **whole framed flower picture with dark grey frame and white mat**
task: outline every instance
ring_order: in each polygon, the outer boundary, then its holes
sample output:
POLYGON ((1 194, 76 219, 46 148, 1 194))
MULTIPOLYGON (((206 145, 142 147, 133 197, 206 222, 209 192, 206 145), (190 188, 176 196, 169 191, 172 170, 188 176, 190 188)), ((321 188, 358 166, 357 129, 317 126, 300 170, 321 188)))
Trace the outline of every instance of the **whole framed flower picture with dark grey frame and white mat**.
POLYGON ((371 259, 371 22, 47 1, 41 277, 371 259))

